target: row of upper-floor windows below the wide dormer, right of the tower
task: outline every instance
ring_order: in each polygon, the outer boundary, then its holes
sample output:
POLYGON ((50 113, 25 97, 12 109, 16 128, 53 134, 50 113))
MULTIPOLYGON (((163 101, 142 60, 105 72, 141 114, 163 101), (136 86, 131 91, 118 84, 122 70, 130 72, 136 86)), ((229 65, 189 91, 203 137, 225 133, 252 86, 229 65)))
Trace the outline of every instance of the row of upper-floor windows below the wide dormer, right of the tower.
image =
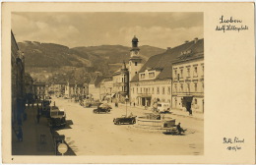
MULTIPOLYGON (((168 87, 161 87, 161 92, 160 92, 160 87, 156 87, 157 94, 170 94, 170 86, 168 87)), ((134 93, 140 93, 140 94, 155 94, 155 87, 136 87, 136 91, 135 91, 135 87, 132 88, 132 92, 134 93)))

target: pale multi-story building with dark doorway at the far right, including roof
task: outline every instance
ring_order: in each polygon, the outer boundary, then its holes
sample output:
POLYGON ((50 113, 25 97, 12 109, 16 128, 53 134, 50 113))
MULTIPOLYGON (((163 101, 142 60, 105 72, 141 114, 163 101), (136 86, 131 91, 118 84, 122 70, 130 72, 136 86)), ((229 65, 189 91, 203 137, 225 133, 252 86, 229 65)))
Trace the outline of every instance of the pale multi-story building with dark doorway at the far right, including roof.
POLYGON ((172 108, 204 112, 204 39, 185 43, 172 64, 172 108))

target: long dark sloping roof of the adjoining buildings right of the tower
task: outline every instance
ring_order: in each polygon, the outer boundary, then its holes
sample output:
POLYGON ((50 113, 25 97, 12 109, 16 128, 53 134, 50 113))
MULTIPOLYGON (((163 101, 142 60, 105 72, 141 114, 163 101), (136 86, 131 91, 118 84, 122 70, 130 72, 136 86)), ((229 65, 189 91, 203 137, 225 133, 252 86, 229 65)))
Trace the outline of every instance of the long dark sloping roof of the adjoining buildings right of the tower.
MULTIPOLYGON (((160 75, 156 80, 165 80, 172 78, 172 63, 180 60, 193 59, 204 54, 204 39, 198 39, 195 43, 194 40, 183 43, 174 48, 168 49, 164 53, 150 57, 150 59, 141 68, 139 73, 145 72, 145 70, 160 70, 160 75), (183 52, 190 52, 188 54, 183 52), (186 58, 185 58, 186 56, 186 58)), ((139 74, 136 74, 132 78, 131 82, 138 82, 139 74)))

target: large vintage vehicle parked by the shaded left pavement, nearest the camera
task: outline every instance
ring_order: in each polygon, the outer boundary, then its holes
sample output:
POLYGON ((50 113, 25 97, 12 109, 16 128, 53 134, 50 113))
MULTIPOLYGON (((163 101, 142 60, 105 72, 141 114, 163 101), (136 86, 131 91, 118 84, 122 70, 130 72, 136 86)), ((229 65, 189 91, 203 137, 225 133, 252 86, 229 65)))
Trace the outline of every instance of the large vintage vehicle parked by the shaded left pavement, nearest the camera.
POLYGON ((64 109, 59 109, 57 106, 50 107, 50 118, 48 119, 50 127, 65 127, 66 113, 64 109))

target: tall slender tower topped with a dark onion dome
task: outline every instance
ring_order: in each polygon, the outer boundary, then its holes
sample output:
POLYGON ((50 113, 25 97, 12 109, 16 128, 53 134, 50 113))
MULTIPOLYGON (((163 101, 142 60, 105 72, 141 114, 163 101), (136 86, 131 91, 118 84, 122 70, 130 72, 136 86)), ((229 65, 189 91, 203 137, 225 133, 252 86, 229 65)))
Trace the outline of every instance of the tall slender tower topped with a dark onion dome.
POLYGON ((138 38, 134 35, 132 39, 132 49, 130 50, 129 60, 129 82, 137 75, 142 68, 142 58, 140 56, 140 48, 138 47, 138 38))

